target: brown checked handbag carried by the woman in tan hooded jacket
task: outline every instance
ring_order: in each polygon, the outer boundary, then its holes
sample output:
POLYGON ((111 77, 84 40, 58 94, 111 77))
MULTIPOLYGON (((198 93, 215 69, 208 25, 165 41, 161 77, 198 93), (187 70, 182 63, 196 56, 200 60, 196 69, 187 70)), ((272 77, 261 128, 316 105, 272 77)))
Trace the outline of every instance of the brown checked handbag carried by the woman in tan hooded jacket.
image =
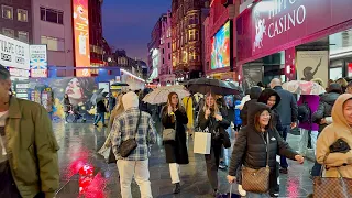
POLYGON ((322 177, 322 170, 326 167, 326 160, 329 153, 324 156, 323 164, 320 169, 320 175, 314 180, 314 198, 326 197, 333 193, 337 198, 351 198, 352 179, 343 178, 339 167, 337 167, 340 177, 322 177))

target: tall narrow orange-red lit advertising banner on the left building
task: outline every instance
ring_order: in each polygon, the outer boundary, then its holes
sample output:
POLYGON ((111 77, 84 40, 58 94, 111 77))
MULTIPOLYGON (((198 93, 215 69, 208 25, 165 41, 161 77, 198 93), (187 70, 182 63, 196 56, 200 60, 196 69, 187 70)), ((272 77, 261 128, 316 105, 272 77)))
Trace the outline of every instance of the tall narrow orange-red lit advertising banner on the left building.
MULTIPOLYGON (((88 0, 73 0, 76 67, 90 67, 88 0)), ((89 69, 77 69, 77 77, 89 77, 89 69)))

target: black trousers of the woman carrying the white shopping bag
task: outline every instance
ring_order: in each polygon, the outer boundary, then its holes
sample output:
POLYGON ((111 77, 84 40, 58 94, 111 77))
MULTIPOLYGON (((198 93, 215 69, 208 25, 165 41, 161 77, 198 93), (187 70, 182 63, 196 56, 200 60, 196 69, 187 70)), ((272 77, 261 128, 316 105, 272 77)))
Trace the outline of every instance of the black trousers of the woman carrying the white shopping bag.
POLYGON ((211 184, 212 189, 218 190, 219 179, 218 179, 218 168, 220 164, 222 145, 212 144, 210 154, 205 155, 207 164, 207 175, 211 184))

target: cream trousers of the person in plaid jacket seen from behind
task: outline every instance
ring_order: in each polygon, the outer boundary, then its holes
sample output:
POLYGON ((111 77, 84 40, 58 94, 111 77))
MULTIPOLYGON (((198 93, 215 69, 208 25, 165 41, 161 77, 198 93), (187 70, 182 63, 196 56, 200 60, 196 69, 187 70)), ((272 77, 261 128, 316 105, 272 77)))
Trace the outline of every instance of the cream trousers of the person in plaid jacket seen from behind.
POLYGON ((134 177, 141 190, 141 198, 152 198, 148 160, 146 161, 118 161, 122 198, 132 198, 131 183, 134 177))

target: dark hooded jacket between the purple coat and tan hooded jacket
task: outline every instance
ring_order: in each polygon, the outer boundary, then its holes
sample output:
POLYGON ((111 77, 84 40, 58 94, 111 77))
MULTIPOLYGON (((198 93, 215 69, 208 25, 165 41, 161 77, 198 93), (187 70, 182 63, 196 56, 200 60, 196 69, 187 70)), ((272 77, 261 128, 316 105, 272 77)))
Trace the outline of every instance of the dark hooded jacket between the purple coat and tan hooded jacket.
MULTIPOLYGON (((341 94, 339 84, 331 84, 328 92, 320 97, 318 110, 312 114, 312 122, 320 123, 320 120, 326 117, 331 117, 332 107, 341 94)), ((322 128, 323 129, 323 128, 322 128)), ((320 129, 319 131, 322 131, 320 129)))

